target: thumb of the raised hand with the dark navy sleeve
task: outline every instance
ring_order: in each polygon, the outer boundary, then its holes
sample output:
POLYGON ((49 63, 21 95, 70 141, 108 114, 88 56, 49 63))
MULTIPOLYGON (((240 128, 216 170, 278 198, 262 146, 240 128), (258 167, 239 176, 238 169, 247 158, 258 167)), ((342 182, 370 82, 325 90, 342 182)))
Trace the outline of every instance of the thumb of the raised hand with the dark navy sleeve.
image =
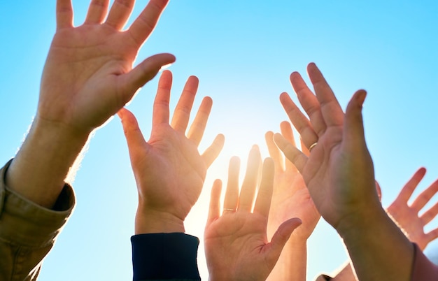
POLYGON ((131 111, 122 108, 117 114, 120 120, 122 120, 123 132, 125 133, 129 154, 133 155, 136 150, 145 147, 147 143, 143 138, 143 134, 141 134, 139 123, 131 111))

